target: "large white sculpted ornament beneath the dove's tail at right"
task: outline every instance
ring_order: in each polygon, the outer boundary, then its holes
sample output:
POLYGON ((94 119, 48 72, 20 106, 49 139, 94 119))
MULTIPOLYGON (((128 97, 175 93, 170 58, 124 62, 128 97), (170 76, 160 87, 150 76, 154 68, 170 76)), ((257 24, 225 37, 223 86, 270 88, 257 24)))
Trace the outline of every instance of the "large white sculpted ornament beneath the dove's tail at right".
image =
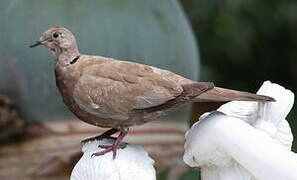
POLYGON ((184 161, 203 180, 296 180, 297 155, 286 116, 294 94, 269 81, 274 103, 234 101, 203 115, 186 134, 184 161))

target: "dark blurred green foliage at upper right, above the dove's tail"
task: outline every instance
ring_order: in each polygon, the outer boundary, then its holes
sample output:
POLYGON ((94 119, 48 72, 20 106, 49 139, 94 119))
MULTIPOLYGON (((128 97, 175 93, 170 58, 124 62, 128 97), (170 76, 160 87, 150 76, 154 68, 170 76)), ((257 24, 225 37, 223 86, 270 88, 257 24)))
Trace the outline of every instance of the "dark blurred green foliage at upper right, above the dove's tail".
MULTIPOLYGON (((198 37, 201 80, 251 92, 271 80, 296 92, 296 0, 181 2, 198 37)), ((295 107, 288 117, 293 134, 296 115, 295 107)))

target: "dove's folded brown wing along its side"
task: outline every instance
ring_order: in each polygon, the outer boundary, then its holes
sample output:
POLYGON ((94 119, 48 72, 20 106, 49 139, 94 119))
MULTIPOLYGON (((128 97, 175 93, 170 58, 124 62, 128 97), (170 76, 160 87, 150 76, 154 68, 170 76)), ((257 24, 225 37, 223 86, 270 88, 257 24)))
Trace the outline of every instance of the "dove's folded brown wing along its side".
POLYGON ((85 67, 73 96, 91 114, 125 120, 133 109, 164 104, 182 92, 183 87, 172 77, 166 78, 150 66, 110 60, 85 67))

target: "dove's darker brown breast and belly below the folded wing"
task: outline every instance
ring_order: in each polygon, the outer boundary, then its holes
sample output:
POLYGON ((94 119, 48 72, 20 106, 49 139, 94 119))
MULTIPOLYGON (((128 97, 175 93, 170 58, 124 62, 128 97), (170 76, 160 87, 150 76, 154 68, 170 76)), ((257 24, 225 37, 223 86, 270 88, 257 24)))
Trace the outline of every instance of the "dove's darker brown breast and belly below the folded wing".
MULTIPOLYGON (((95 104, 92 101, 87 100, 87 103, 82 101, 87 96, 84 92, 79 92, 77 88, 77 86, 81 85, 79 80, 82 80, 82 69, 78 65, 76 64, 76 66, 72 67, 56 66, 55 68, 56 85, 63 102, 75 116, 89 124, 108 128, 126 127, 144 123, 140 120, 140 117, 128 119, 128 116, 119 113, 110 114, 104 110, 102 105, 95 104)), ((86 65, 81 63, 81 67, 83 66, 86 65)), ((84 87, 87 86, 82 86, 82 88, 84 87)), ((120 110, 121 107, 117 109, 120 110)))

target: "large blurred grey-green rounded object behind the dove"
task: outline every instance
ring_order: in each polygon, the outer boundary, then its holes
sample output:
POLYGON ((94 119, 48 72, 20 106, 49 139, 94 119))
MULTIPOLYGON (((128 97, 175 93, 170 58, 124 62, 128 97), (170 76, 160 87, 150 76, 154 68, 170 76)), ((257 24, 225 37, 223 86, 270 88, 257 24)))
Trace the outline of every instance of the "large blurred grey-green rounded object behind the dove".
MULTIPOLYGON (((70 29, 84 54, 198 78, 195 38, 176 0, 4 0, 0 24, 0 93, 29 121, 73 118, 55 86, 53 57, 46 48, 28 47, 52 26, 70 29)), ((171 119, 188 114, 180 109, 171 119)))

